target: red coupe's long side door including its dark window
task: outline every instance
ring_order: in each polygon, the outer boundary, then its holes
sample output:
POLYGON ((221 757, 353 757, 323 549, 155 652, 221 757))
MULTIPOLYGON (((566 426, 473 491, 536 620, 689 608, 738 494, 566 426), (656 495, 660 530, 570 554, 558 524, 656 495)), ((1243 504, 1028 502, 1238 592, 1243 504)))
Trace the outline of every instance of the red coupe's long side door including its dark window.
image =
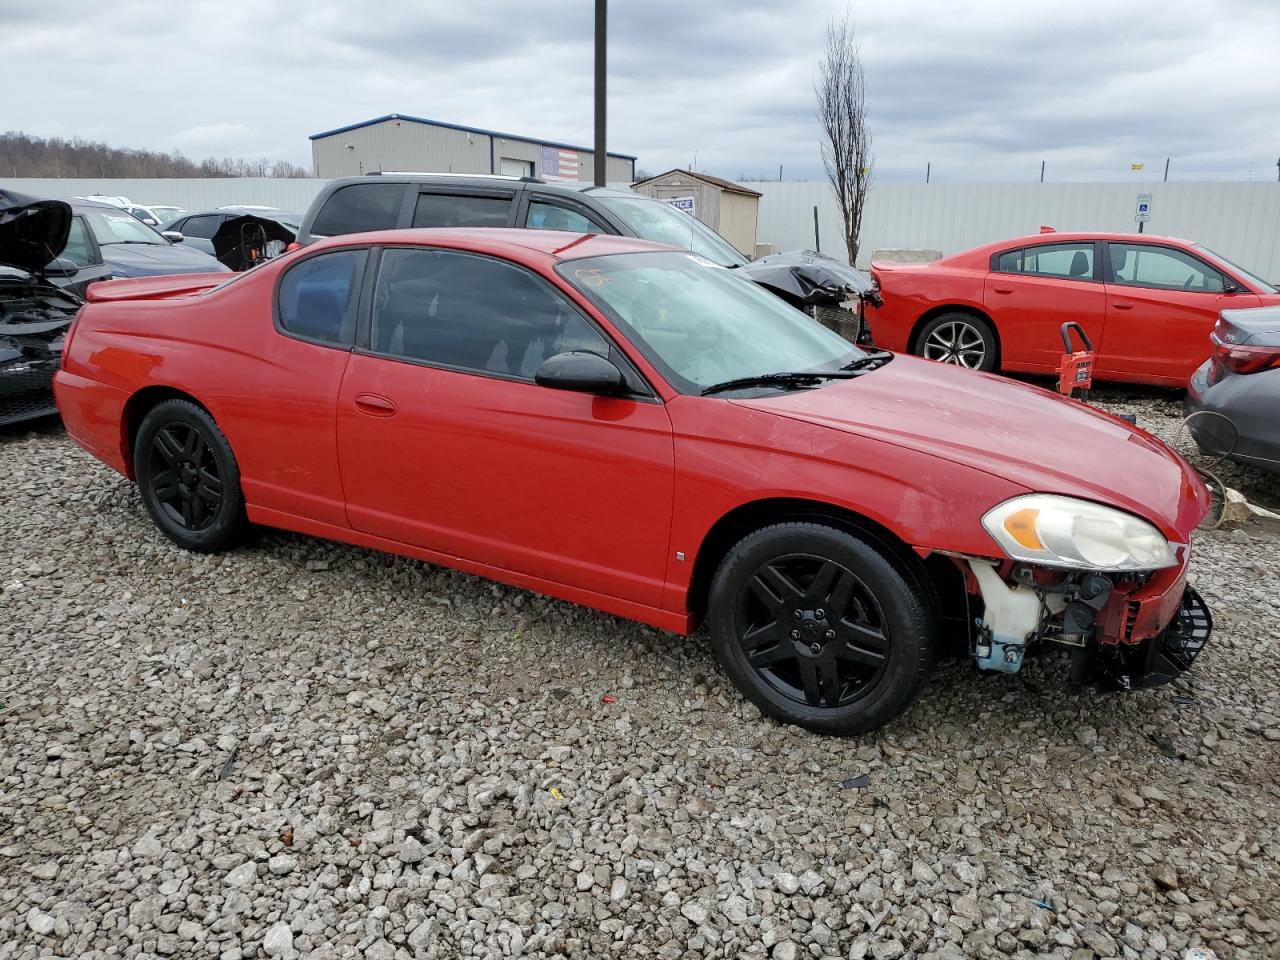
POLYGON ((337 415, 352 527, 660 604, 671 421, 590 317, 509 261, 389 247, 364 328, 337 415), (630 393, 534 383, 541 360, 570 349, 609 356, 630 393))

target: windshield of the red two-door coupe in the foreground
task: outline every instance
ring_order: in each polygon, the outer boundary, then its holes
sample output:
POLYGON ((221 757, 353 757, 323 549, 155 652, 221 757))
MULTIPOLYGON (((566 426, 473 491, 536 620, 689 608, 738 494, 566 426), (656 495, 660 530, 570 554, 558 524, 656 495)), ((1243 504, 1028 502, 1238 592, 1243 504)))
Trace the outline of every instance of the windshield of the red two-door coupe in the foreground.
POLYGON ((838 370, 865 356, 806 314, 694 253, 616 253, 564 261, 557 270, 682 393, 780 371, 838 370))

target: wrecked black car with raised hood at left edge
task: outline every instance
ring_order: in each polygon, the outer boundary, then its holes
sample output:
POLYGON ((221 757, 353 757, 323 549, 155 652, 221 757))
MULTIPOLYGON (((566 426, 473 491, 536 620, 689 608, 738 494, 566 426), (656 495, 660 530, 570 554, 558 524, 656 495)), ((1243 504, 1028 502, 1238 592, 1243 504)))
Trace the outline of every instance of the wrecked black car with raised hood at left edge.
MULTIPOLYGON (((72 209, 0 189, 0 426, 56 413, 52 380, 84 276, 59 259, 72 209)), ((106 275, 106 269, 102 269, 106 275)))

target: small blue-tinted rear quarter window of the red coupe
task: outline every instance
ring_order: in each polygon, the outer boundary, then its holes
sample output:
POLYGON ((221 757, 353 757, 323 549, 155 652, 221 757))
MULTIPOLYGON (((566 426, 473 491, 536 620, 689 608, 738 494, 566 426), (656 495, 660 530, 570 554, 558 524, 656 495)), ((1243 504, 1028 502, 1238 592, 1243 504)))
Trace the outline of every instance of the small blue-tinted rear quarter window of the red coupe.
POLYGON ((355 293, 365 269, 364 250, 339 250, 307 257, 280 280, 280 326, 296 337, 339 346, 352 342, 355 293))

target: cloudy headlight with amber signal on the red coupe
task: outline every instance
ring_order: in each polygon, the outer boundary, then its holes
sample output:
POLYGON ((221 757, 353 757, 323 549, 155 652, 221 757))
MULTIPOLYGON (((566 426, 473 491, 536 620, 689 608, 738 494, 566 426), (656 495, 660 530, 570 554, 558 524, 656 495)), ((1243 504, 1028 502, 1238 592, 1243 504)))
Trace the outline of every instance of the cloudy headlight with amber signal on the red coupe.
POLYGON ((1073 497, 1014 497, 987 511, 982 525, 1011 559, 1027 563, 1143 571, 1178 562, 1169 541, 1146 520, 1073 497))

